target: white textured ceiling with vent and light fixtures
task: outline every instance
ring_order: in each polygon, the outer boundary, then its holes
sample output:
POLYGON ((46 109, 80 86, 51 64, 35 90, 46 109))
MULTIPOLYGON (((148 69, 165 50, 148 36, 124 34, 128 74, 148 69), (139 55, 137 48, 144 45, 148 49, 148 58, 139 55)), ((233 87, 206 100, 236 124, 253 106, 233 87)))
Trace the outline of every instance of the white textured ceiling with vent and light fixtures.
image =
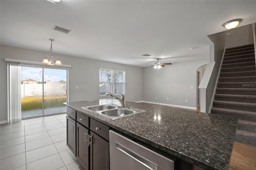
POLYGON ((207 35, 236 18, 256 22, 256 0, 1 0, 0 43, 49 51, 52 38, 53 53, 145 67, 208 57, 207 35))

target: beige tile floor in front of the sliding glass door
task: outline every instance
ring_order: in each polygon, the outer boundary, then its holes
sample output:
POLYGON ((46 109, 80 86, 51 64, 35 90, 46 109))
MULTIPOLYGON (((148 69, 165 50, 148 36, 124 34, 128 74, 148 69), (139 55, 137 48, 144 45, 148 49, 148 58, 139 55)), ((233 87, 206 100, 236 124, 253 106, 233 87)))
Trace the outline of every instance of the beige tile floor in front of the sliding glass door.
POLYGON ((66 146, 66 114, 0 125, 0 170, 84 170, 66 146))

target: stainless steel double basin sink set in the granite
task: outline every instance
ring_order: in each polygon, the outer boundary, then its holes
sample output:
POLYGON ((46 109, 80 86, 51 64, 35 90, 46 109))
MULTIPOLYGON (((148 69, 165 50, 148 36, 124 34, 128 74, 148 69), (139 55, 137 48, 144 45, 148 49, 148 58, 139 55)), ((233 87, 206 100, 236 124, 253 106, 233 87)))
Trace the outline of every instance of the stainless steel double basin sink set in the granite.
POLYGON ((144 112, 144 110, 140 110, 140 109, 130 109, 130 108, 125 108, 125 107, 120 107, 117 105, 110 105, 110 104, 88 106, 88 107, 82 107, 82 108, 98 113, 110 119, 117 119, 120 117, 125 117, 128 115, 144 112))

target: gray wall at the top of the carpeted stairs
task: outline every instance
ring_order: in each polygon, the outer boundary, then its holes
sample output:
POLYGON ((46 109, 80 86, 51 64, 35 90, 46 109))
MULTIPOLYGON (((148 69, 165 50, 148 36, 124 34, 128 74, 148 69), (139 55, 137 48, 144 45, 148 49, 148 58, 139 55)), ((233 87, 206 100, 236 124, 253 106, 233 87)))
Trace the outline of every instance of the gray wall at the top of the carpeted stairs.
POLYGON ((226 48, 253 43, 252 24, 226 31, 226 48), (230 35, 227 35, 227 34, 230 35))

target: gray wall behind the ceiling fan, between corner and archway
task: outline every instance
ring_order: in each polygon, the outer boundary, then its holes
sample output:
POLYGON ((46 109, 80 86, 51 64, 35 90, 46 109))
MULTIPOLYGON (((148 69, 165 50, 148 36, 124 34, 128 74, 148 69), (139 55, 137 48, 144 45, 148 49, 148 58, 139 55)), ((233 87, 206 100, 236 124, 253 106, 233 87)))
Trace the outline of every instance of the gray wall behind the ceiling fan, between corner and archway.
POLYGON ((196 107, 196 71, 208 63, 209 58, 206 58, 172 63, 172 65, 158 71, 154 67, 144 67, 143 100, 183 107, 196 107))

